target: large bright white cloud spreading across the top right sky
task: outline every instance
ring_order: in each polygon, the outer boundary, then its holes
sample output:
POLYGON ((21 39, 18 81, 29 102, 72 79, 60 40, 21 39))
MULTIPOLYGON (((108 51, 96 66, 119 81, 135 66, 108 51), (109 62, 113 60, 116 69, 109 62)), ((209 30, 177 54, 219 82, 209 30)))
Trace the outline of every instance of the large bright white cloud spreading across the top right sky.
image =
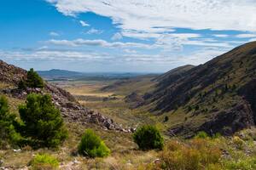
POLYGON ((110 17, 123 36, 159 37, 175 27, 256 31, 255 0, 48 0, 62 14, 110 17), (139 33, 139 34, 138 34, 139 33))

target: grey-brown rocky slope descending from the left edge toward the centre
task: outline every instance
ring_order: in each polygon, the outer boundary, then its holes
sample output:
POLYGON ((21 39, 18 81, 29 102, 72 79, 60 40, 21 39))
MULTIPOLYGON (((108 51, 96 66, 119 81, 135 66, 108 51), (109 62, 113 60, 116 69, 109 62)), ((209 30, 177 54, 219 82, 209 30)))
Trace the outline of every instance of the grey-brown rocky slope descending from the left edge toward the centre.
POLYGON ((105 129, 123 132, 131 132, 133 130, 132 128, 123 128, 119 126, 119 124, 113 122, 112 119, 102 116, 102 114, 96 111, 84 108, 84 106, 79 105, 73 95, 49 82, 44 82, 44 89, 17 89, 18 83, 24 78, 26 78, 25 70, 16 67, 15 65, 9 65, 0 60, 0 82, 12 85, 12 88, 0 89, 0 94, 6 94, 18 99, 26 99, 26 95, 30 93, 50 94, 52 96, 53 103, 60 109, 62 116, 68 122, 80 122, 82 124, 96 123, 105 129))

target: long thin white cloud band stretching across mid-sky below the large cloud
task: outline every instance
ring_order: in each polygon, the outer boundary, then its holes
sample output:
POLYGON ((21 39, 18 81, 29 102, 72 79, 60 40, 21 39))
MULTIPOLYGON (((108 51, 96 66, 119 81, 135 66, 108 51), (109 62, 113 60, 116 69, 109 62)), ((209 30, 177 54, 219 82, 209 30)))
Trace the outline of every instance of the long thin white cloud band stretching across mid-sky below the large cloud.
POLYGON ((56 40, 51 39, 47 43, 61 46, 97 46, 103 48, 142 48, 142 49, 154 49, 159 48, 165 51, 174 51, 183 49, 183 45, 194 45, 201 47, 219 47, 219 48, 231 48, 232 46, 227 42, 215 42, 210 39, 195 39, 200 37, 197 34, 163 34, 156 39, 154 43, 142 43, 142 42, 107 42, 102 39, 75 39, 75 40, 56 40))

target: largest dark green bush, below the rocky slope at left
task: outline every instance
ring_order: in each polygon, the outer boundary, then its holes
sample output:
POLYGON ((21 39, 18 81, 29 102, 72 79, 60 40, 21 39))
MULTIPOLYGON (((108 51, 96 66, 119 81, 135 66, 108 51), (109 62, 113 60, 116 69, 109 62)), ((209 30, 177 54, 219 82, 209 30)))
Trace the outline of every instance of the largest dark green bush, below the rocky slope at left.
POLYGON ((67 138, 61 113, 49 95, 29 94, 26 105, 20 105, 19 112, 24 123, 20 133, 29 144, 55 147, 67 138))

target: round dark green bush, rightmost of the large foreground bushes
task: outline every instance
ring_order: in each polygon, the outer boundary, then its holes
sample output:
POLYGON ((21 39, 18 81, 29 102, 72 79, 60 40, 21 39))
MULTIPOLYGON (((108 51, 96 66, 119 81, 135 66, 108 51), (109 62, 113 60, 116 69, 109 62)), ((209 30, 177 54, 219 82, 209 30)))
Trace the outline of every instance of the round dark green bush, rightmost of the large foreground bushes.
POLYGON ((161 150, 164 146, 164 139, 160 131, 154 126, 145 125, 138 128, 133 134, 133 139, 141 150, 161 150))

